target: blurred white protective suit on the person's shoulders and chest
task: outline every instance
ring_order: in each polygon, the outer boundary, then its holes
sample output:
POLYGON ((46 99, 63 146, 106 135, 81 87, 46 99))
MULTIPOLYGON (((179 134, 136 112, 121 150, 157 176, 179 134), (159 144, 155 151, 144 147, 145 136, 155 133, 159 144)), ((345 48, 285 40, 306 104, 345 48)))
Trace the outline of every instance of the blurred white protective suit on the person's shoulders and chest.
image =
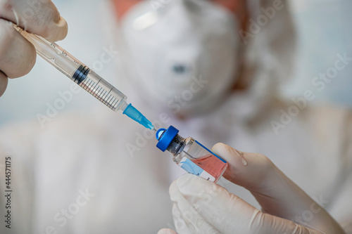
MULTIPOLYGON (((251 91, 234 93, 207 115, 163 117, 163 126, 172 124, 181 136, 192 136, 208 148, 222 142, 268 156, 338 221, 351 221, 350 110, 307 105, 282 123, 280 110, 288 112, 294 103, 259 95, 271 85, 263 82, 257 79, 251 91), (280 126, 278 134, 272 121, 282 124, 275 125, 280 126)), ((133 100, 146 117, 160 119, 161 112, 133 100)), ((168 186, 183 172, 172 155, 155 147, 151 131, 144 131, 103 106, 67 112, 44 128, 35 120, 1 128, 1 191, 6 157, 11 157, 11 232, 137 234, 172 228, 168 186)), ((257 205, 243 188, 223 179, 220 184, 257 205)), ((1 195, 2 219, 7 202, 1 195)), ((298 219, 310 219, 309 212, 308 207, 298 219)), ((0 233, 10 233, 4 223, 0 233)))

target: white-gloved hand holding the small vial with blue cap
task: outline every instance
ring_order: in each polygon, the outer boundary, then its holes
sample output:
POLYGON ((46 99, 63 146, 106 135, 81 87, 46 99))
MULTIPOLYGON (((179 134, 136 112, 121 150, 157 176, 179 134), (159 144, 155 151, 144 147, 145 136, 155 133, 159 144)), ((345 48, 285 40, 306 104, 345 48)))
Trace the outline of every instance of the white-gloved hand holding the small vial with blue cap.
MULTIPOLYGON (((214 145, 212 150, 229 163, 224 177, 249 190, 262 211, 215 183, 186 174, 170 186, 177 233, 345 233, 325 209, 287 178, 268 157, 239 152, 222 143, 214 145), (247 164, 242 163, 243 158, 247 164), (305 212, 313 214, 311 219, 303 219, 305 212)), ((158 234, 175 232, 162 229, 158 234)))

